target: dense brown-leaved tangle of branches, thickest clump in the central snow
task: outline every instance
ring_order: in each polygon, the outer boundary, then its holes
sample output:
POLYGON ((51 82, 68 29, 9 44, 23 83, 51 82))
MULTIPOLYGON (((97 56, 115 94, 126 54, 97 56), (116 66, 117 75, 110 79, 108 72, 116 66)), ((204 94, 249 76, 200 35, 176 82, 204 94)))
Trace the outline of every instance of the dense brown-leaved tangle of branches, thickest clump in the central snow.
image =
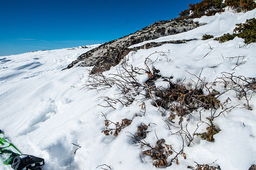
MULTIPOLYGON (((200 74, 201 75, 201 74, 200 74)), ((220 97, 223 93, 219 93, 211 87, 207 87, 207 84, 203 86, 203 80, 198 78, 197 83, 195 83, 195 87, 187 87, 184 84, 184 81, 179 81, 176 83, 172 83, 170 78, 161 77, 169 83, 169 88, 157 88, 156 86, 150 85, 149 94, 156 95, 161 99, 154 100, 154 106, 163 107, 165 110, 170 111, 169 119, 172 121, 176 118, 176 116, 180 117, 179 124, 183 121, 183 117, 185 115, 190 115, 194 110, 198 108, 211 109, 212 115, 211 118, 213 120, 214 114, 216 110, 221 107, 224 108, 225 104, 228 101, 220 102, 217 98, 220 97), (203 88, 208 92, 207 95, 204 94, 203 88), (217 97, 215 97, 218 95, 217 97)), ((194 75, 195 76, 195 75, 194 75)), ((145 82, 146 84, 147 82, 145 82)), ((148 83, 147 83, 148 84, 148 83)), ((153 99, 153 98, 152 98, 153 99)), ((231 109, 231 108, 230 108, 231 109)), ((225 109, 227 110, 227 108, 225 109)), ((161 111, 161 110, 160 110, 161 111)), ((161 111, 162 112, 162 111, 161 111)))

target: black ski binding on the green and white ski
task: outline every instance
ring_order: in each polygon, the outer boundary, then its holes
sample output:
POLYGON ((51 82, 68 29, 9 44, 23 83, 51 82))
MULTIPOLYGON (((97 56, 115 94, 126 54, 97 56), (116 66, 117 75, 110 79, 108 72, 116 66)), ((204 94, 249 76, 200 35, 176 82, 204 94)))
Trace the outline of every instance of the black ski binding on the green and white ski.
POLYGON ((14 170, 41 170, 44 159, 32 155, 19 155, 13 159, 12 168, 14 170))

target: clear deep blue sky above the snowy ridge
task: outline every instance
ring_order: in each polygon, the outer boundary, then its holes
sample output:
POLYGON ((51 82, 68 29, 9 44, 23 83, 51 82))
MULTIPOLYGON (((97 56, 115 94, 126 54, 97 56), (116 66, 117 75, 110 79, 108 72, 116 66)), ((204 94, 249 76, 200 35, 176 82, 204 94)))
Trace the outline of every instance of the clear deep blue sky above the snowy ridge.
POLYGON ((105 43, 200 0, 1 0, 0 56, 105 43))

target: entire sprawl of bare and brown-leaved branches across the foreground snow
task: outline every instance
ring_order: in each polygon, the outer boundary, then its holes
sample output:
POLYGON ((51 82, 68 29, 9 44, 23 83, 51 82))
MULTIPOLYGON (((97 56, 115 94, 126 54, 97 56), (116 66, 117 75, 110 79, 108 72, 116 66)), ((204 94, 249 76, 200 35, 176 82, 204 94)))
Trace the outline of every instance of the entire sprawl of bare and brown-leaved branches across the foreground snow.
MULTIPOLYGON (((156 52, 158 53, 158 52, 156 52)), ((155 53, 154 53, 155 54, 155 53)), ((239 59, 239 57, 238 57, 239 59)), ((156 59, 157 60, 157 59, 156 59)), ((184 159, 187 158, 186 154, 183 152, 184 144, 185 146, 190 146, 193 143, 195 137, 201 137, 204 140, 209 142, 214 142, 213 136, 220 132, 220 129, 217 129, 213 124, 213 120, 220 115, 225 115, 225 113, 230 112, 236 106, 228 106, 231 102, 229 98, 224 101, 220 100, 220 96, 227 92, 218 92, 215 88, 217 83, 224 83, 226 88, 236 90, 237 97, 245 97, 247 101, 248 108, 248 93, 255 92, 255 78, 245 78, 245 77, 236 77, 229 73, 223 73, 223 76, 220 78, 222 81, 215 81, 213 83, 205 83, 205 78, 189 73, 196 77, 196 80, 193 81, 190 85, 184 83, 185 79, 182 81, 172 81, 171 77, 164 77, 161 75, 160 70, 157 70, 153 63, 156 61, 146 58, 144 68, 133 67, 131 64, 128 64, 129 59, 124 58, 118 66, 116 66, 116 73, 106 75, 102 72, 97 72, 95 74, 90 74, 89 84, 85 85, 85 89, 96 89, 102 90, 106 88, 117 88, 115 95, 118 97, 108 97, 101 96, 107 104, 101 104, 102 107, 112 107, 114 109, 117 103, 121 103, 123 106, 130 106, 134 104, 134 101, 140 102, 141 112, 144 116, 147 116, 145 100, 149 99, 152 101, 153 106, 157 107, 157 112, 161 112, 164 122, 170 129, 172 135, 178 135, 182 139, 182 148, 179 151, 175 151, 172 145, 165 144, 164 139, 160 139, 156 142, 156 145, 151 146, 146 142, 148 131, 148 126, 144 123, 141 123, 137 132, 134 129, 133 133, 130 133, 131 140, 133 144, 140 144, 140 148, 147 147, 146 150, 142 152, 142 155, 147 155, 153 160, 153 164, 156 167, 167 167, 175 162, 179 164, 180 157, 184 159), (150 65, 149 65, 150 63, 150 65), (138 75, 147 74, 148 78, 141 81, 138 78, 138 75), (139 81, 140 80, 140 81, 139 81), (167 88, 157 87, 156 82, 164 81, 168 84, 167 88), (243 81, 241 85, 240 81, 243 81), (201 113, 205 111, 208 118, 206 120, 201 120, 201 113), (170 113, 167 117, 166 112, 170 113), (197 123, 197 127, 191 131, 188 127, 191 116, 200 116, 200 122, 197 123), (184 119, 187 121, 185 122, 184 119), (175 124, 174 121, 177 121, 175 124), (206 128, 207 132, 197 133, 197 129, 206 123, 208 127, 206 128), (171 129, 171 126, 174 127, 171 129), (176 131, 173 132, 173 129, 176 131), (134 134, 134 135, 133 135, 134 134)), ((244 62, 244 58, 242 59, 244 62)), ((239 65, 237 62, 236 65, 239 65)), ((202 69, 203 70, 203 69, 202 69)), ((150 107, 149 107, 150 108, 150 107)), ((147 106, 148 111, 148 106, 147 106)), ((138 112, 137 112, 138 113, 138 112)), ((134 114, 134 113, 133 113, 134 114)), ((135 116, 138 116, 135 114, 135 116)), ((127 126, 131 125, 132 120, 123 119, 121 122, 112 122, 105 117, 105 126, 106 129, 102 130, 106 136, 113 135, 115 137, 127 126)), ((195 120, 195 119, 194 119, 195 120)), ((158 139, 158 138, 157 138, 158 139)), ((176 145, 176 144, 175 144, 176 145)), ((141 159, 142 160, 142 159, 141 159)), ((204 168, 213 168, 212 166, 199 165, 198 169, 204 168)))

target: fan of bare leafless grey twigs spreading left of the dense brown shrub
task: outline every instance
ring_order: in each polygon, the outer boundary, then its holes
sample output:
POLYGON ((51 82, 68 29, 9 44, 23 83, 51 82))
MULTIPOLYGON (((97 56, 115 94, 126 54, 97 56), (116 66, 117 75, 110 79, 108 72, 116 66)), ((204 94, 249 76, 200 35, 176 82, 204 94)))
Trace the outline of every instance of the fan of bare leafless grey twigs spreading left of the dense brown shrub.
MULTIPOLYGON (((102 72, 90 74, 89 84, 84 85, 82 89, 96 89, 102 90, 111 88, 113 86, 119 89, 117 94, 121 94, 118 99, 110 99, 106 96, 105 101, 121 102, 122 105, 128 106, 135 100, 135 96, 139 95, 140 92, 145 88, 137 80, 136 75, 141 74, 138 71, 140 69, 133 68, 132 65, 127 64, 127 60, 122 60, 120 65, 116 67, 117 74, 109 74, 108 76, 103 75, 102 72)), ((111 104, 108 103, 110 106, 111 104)))

